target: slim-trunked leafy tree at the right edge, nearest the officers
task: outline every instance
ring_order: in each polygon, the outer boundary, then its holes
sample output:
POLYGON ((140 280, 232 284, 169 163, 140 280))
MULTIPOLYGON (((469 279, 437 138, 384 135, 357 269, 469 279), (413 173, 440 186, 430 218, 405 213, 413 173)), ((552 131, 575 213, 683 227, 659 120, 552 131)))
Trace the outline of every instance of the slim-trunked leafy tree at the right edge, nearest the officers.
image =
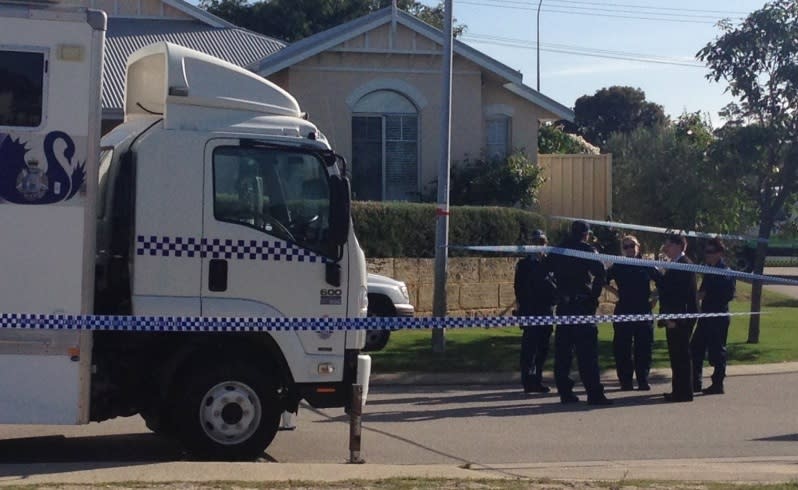
MULTIPOLYGON (((736 27, 728 21, 719 26, 723 34, 696 56, 706 62, 707 78, 728 82, 726 91, 739 100, 722 113, 728 122, 719 152, 727 169, 742 166, 750 172, 740 185, 758 208, 754 272, 761 274, 766 240, 778 213, 794 200, 798 178, 798 3, 776 0, 736 27)), ((755 282, 751 310, 759 311, 761 301, 762 283, 755 282)), ((758 315, 751 316, 748 342, 759 342, 758 315)))

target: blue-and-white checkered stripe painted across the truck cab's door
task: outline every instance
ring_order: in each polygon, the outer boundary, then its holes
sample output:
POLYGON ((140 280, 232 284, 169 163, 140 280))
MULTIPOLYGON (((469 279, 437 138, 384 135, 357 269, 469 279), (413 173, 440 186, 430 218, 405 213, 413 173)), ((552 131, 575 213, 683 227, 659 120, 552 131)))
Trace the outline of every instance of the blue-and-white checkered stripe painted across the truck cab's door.
POLYGON ((137 236, 136 255, 311 263, 327 260, 310 250, 282 240, 198 239, 157 235, 137 236))

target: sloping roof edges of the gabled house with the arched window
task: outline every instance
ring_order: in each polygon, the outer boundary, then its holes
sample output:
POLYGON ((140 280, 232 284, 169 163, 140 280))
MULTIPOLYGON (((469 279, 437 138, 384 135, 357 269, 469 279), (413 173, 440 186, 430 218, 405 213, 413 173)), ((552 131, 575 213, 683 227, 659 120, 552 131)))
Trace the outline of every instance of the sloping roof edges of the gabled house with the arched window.
MULTIPOLYGON (((432 27, 407 12, 394 7, 386 7, 369 15, 297 41, 285 49, 280 50, 279 53, 264 59, 259 64, 253 66, 252 69, 263 77, 269 76, 390 22, 397 22, 443 45, 443 32, 440 29, 432 27)), ((510 68, 457 39, 454 40, 452 51, 454 54, 462 56, 480 66, 482 69, 504 79, 504 87, 510 92, 551 112, 558 119, 573 120, 573 110, 543 95, 537 90, 524 85, 521 72, 510 68)))

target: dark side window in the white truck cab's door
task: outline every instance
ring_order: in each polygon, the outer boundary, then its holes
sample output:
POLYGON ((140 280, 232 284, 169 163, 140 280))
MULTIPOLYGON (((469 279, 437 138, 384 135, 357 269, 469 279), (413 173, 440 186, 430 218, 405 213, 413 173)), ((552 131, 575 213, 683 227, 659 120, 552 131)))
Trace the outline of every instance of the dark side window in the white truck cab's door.
POLYGON ((322 255, 330 189, 324 163, 291 149, 222 146, 213 152, 214 217, 253 227, 322 255))

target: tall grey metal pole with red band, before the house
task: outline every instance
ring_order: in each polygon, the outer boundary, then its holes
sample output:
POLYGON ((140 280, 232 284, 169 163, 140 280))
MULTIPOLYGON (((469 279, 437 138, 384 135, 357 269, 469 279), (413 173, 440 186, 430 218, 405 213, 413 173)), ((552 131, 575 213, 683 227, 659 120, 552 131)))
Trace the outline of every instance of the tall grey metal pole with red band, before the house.
MULTIPOLYGON (((438 167, 438 207, 435 210, 435 290, 432 314, 446 316, 446 276, 449 271, 449 158, 452 116, 452 0, 443 13, 443 66, 441 67, 441 153, 438 167)), ((432 351, 446 350, 446 330, 432 330, 432 351)))

